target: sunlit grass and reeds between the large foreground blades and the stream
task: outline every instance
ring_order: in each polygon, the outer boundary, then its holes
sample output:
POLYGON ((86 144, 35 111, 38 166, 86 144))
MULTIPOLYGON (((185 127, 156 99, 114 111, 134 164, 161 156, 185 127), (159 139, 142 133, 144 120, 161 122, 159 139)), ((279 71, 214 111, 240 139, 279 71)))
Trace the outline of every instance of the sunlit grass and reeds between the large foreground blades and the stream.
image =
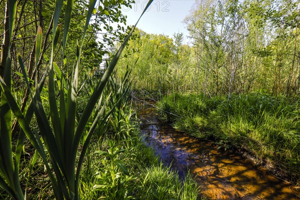
POLYGON ((180 180, 141 141, 139 121, 128 103, 129 73, 122 78, 113 75, 104 90, 103 96, 114 91, 106 110, 112 112, 106 128, 98 126, 101 133, 95 134, 84 160, 81 198, 197 199, 198 186, 190 175, 180 180))

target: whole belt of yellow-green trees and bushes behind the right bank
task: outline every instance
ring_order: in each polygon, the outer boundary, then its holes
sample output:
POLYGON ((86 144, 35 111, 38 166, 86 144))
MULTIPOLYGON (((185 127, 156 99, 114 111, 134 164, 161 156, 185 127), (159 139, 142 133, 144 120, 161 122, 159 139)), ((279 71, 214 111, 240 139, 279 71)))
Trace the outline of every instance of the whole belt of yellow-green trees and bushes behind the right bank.
POLYGON ((139 31, 129 49, 140 53, 128 55, 123 66, 133 68, 136 88, 211 96, 258 90, 295 95, 298 20, 297 1, 198 0, 184 20, 189 45, 182 44, 180 33, 171 39, 139 31))

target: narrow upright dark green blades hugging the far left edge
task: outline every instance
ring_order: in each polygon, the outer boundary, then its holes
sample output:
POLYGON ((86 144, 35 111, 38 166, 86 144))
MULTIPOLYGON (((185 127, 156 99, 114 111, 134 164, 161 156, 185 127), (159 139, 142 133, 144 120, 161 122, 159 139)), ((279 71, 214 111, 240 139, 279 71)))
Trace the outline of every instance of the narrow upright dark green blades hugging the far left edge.
MULTIPOLYGON (((16 0, 11 0, 6 4, 8 11, 8 27, 9 32, 7 38, 7 43, 10 44, 11 37, 12 37, 12 30, 13 24, 15 20, 15 12, 16 12, 16 0)), ((7 9, 6 8, 6 9, 7 9)), ((2 49, 2 51, 5 49, 2 49)), ((1 59, 2 56, 4 57, 5 61, 5 68, 1 66, 0 72, 0 81, 1 86, 2 84, 6 84, 6 92, 10 92, 11 90, 11 56, 10 56, 10 46, 7 47, 7 54, 3 55, 1 52, 1 59), (7 57, 6 57, 7 56, 7 57)), ((1 63, 2 64, 2 63, 1 63)), ((19 160, 20 160, 20 148, 22 142, 24 140, 23 136, 18 138, 18 145, 16 148, 16 152, 18 154, 13 156, 12 145, 11 145, 11 111, 9 102, 10 96, 4 95, 3 88, 1 89, 1 98, 0 98, 0 187, 6 190, 13 198, 15 199, 23 199, 23 193, 20 187, 19 178, 18 178, 18 167, 19 167, 19 160)))

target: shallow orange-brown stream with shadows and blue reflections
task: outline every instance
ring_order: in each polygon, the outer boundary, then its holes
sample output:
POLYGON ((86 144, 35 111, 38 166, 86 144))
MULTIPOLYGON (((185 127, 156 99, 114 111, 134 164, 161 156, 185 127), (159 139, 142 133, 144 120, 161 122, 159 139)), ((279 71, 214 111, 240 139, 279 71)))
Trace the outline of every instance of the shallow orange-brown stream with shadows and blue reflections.
POLYGON ((165 164, 183 176, 196 175, 206 199, 300 199, 300 188, 257 169, 237 153, 163 124, 151 105, 140 106, 141 132, 165 164))

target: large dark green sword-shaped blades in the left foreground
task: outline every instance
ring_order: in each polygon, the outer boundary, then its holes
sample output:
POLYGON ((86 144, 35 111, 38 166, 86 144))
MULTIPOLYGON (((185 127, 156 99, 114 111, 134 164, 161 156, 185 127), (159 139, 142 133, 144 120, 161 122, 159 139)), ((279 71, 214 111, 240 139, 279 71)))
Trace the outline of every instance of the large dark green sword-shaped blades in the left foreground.
MULTIPOLYGON (((151 1, 152 0, 149 0, 145 10, 150 5, 151 1)), ((10 40, 13 31, 17 1, 9 0, 7 2, 9 12, 8 39, 10 40)), ((39 82, 37 79, 37 73, 35 73, 35 85, 33 88, 30 87, 27 80, 23 60, 20 55, 17 56, 18 64, 22 69, 23 77, 28 89, 30 90, 31 96, 31 103, 25 113, 20 110, 20 107, 11 92, 11 58, 9 53, 10 49, 8 48, 4 72, 0 74, 0 187, 8 192, 13 199, 24 199, 24 191, 21 189, 19 183, 19 162, 25 137, 30 141, 31 145, 36 149, 36 152, 43 161, 55 198, 80 198, 78 188, 82 162, 91 137, 96 130, 98 121, 100 119, 105 121, 105 119, 109 116, 108 114, 104 115, 105 105, 109 100, 109 97, 107 97, 107 99, 102 99, 103 103, 101 103, 97 112, 95 112, 92 116, 93 120, 91 125, 88 126, 84 140, 82 140, 82 136, 86 132, 86 124, 94 106, 97 102, 99 102, 99 99, 101 99, 100 96, 104 86, 117 63, 126 42, 136 26, 135 24, 132 30, 128 33, 124 42, 113 56, 103 76, 95 85, 93 92, 89 96, 89 99, 83 108, 81 116, 76 118, 81 49, 92 12, 94 11, 95 3, 96 0, 90 0, 88 2, 88 11, 86 14, 83 34, 81 40, 78 41, 76 46, 76 57, 75 60, 73 60, 74 70, 70 81, 66 81, 64 71, 61 69, 64 68, 64 65, 66 64, 67 56, 65 54, 65 47, 67 45, 67 35, 73 8, 73 0, 67 0, 63 31, 61 30, 60 25, 58 25, 63 0, 56 0, 55 2, 55 11, 53 13, 52 23, 52 43, 48 67, 39 82), (58 45, 58 38, 60 35, 62 36, 61 46, 58 45), (54 62, 54 53, 58 48, 62 49, 63 57, 60 68, 54 62), (48 86, 47 99, 49 103, 50 120, 48 120, 48 115, 45 112, 40 96, 41 89, 45 82, 48 86), (21 128, 15 149, 13 149, 11 145, 11 112, 21 128), (33 114, 36 118, 38 129, 32 129, 29 125, 33 114), (78 150, 79 146, 80 150, 78 150)), ((37 66, 41 54, 44 53, 41 51, 41 41, 42 29, 39 26, 37 28, 35 39, 35 66, 37 66)))

